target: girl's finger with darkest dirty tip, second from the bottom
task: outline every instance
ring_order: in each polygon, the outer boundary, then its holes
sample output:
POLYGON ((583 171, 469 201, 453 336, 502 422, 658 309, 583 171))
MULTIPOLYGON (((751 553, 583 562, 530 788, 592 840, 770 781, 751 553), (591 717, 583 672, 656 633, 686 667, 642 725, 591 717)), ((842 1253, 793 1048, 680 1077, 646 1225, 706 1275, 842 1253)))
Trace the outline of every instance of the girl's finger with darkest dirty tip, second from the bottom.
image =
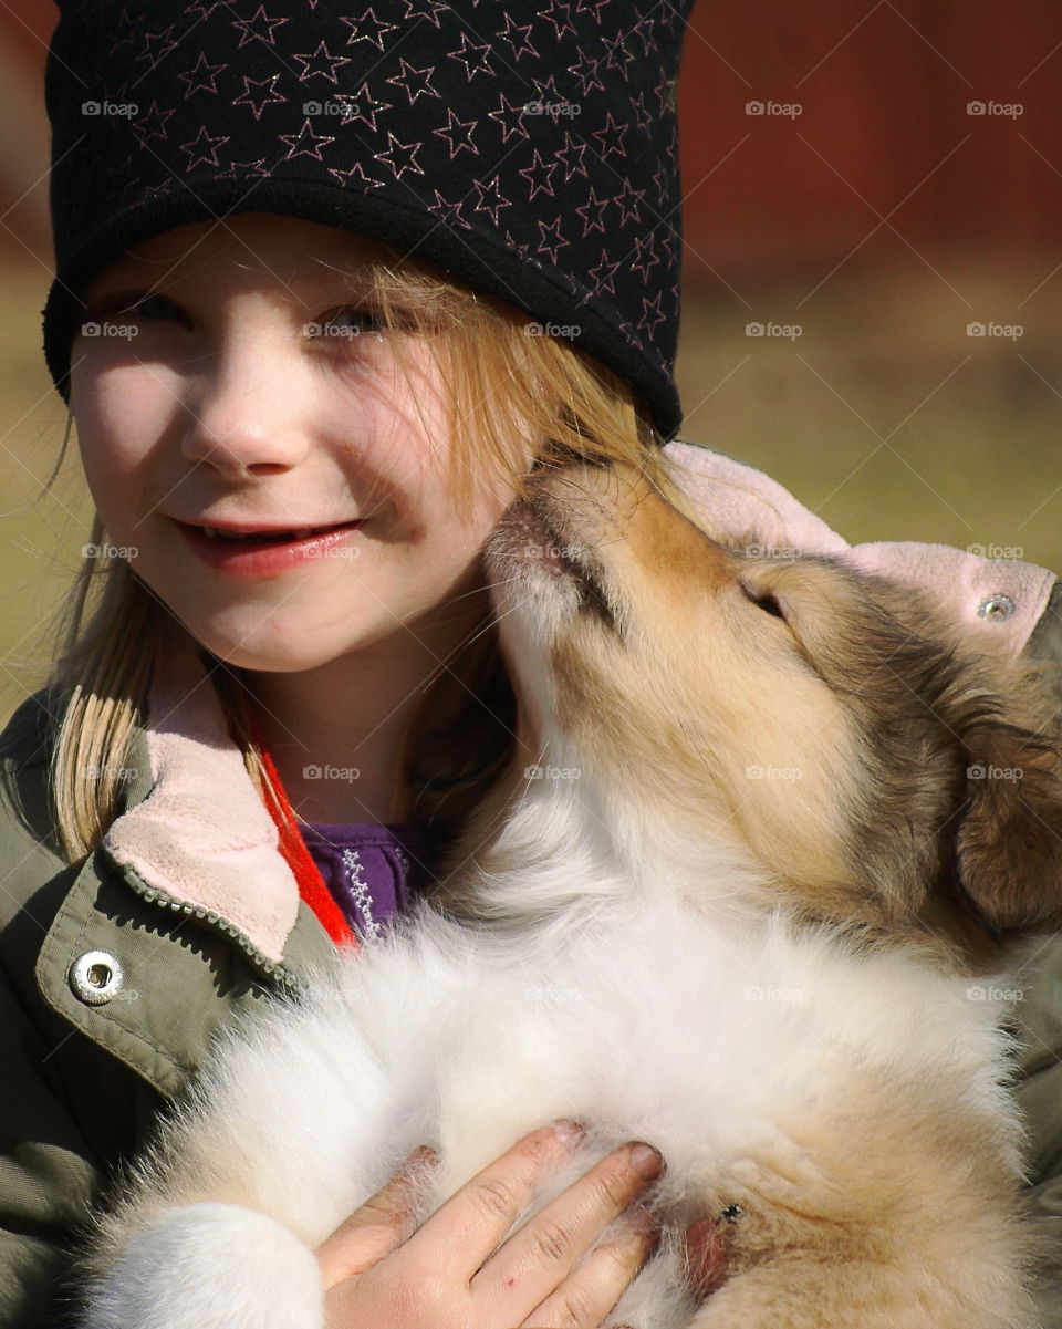
POLYGON ((490 1304, 544 1301, 661 1166, 659 1154, 647 1144, 614 1150, 509 1237, 472 1280, 472 1290, 490 1304))

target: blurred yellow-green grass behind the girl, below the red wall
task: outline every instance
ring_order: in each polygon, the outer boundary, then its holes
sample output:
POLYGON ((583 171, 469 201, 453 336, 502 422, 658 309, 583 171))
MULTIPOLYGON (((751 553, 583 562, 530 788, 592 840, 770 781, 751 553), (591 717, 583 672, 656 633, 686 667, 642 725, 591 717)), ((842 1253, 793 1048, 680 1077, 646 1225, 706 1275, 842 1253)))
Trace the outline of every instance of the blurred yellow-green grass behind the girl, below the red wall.
MULTIPOLYGON (((1055 260, 1057 262, 1057 260, 1055 260)), ((1062 275, 1047 255, 759 270, 687 294, 683 436, 758 466, 852 542, 1014 546, 1062 571, 1062 275), (813 292, 813 294, 811 294, 813 292), (799 324, 752 338, 748 322, 799 324), (1017 339, 969 322, 1021 324, 1017 339)), ((49 614, 73 581, 92 509, 74 441, 52 492, 66 411, 40 352, 47 274, 0 278, 0 712, 45 678, 49 614)))

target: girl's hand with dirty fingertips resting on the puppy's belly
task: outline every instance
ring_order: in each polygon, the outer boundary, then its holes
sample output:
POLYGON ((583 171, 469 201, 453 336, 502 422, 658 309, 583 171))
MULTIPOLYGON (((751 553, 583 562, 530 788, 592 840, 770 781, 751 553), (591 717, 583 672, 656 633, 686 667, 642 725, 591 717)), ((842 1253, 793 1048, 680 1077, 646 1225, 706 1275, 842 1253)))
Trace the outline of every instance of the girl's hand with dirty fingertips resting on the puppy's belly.
MULTIPOLYGON (((399 1172, 318 1251, 328 1329, 597 1329, 654 1245, 646 1212, 631 1209, 627 1231, 576 1265, 659 1174, 655 1150, 609 1154, 498 1247, 577 1143, 570 1126, 525 1136, 409 1240, 409 1176, 399 1172)), ((419 1154, 423 1164, 429 1154, 419 1154)))

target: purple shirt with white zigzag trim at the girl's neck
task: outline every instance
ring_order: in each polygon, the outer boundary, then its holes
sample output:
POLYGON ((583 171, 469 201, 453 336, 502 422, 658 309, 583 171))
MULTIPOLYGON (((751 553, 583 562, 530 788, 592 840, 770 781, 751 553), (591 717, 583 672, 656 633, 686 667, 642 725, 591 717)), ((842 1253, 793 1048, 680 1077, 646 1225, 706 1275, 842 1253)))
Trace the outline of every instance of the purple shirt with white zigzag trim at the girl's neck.
POLYGON ((354 823, 299 827, 324 885, 359 937, 383 936, 432 881, 432 853, 420 825, 354 823))

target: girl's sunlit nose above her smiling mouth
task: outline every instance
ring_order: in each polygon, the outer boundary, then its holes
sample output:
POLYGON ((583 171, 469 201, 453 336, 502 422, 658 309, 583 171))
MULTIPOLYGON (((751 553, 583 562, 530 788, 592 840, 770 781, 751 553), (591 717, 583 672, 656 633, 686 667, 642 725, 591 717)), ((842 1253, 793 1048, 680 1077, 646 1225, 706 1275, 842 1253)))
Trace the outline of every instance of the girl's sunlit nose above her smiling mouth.
POLYGON ((183 455, 226 477, 298 465, 310 448, 306 365, 283 322, 229 324, 186 383, 183 455))

